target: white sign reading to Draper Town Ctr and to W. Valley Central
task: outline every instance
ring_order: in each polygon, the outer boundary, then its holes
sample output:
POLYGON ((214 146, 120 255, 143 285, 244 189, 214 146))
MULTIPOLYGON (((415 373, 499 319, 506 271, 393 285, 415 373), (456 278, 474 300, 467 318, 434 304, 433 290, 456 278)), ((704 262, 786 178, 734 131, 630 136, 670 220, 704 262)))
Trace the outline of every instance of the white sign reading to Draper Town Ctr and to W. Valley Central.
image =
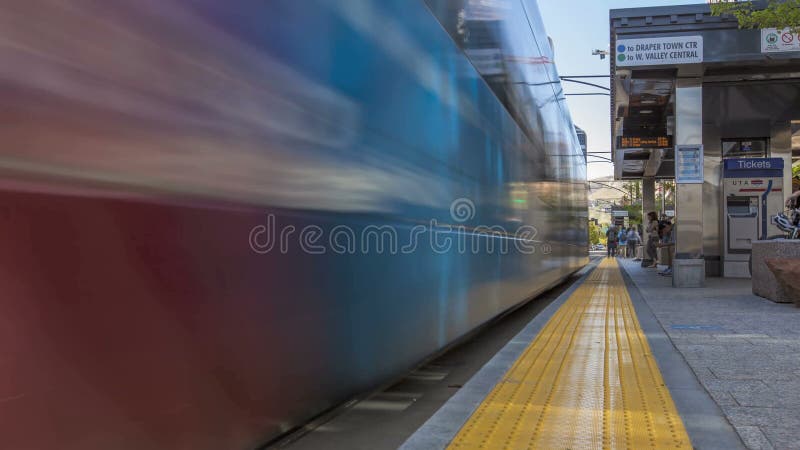
POLYGON ((696 64, 703 62, 703 36, 621 39, 616 50, 619 67, 696 64))

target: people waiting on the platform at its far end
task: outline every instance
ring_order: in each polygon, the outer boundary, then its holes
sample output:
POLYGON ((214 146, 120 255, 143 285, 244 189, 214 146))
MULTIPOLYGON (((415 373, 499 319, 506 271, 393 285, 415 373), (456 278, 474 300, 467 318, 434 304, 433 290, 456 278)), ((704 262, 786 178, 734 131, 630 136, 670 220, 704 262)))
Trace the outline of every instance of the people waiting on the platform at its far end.
MULTIPOLYGON (((609 258, 620 256, 622 258, 636 258, 636 249, 642 242, 642 237, 636 227, 622 227, 617 230, 615 226, 609 227, 606 232, 607 255, 609 258)), ((675 250, 675 225, 667 220, 659 220, 658 215, 651 211, 647 214, 647 258, 652 263, 646 267, 658 267, 658 249, 668 248, 665 252, 665 261, 662 264, 667 268, 659 272, 659 275, 672 275, 672 259, 675 250)))

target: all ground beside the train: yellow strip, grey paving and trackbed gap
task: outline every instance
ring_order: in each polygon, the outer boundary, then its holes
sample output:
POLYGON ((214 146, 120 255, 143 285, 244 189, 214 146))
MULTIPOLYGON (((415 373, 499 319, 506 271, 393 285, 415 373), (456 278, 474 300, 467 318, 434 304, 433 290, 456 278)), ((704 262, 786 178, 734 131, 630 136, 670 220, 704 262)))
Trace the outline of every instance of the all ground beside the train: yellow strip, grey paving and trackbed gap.
POLYGON ((439 389, 399 383, 291 447, 800 448, 800 309, 749 280, 596 258, 532 315, 467 379, 433 364, 415 376, 439 389))

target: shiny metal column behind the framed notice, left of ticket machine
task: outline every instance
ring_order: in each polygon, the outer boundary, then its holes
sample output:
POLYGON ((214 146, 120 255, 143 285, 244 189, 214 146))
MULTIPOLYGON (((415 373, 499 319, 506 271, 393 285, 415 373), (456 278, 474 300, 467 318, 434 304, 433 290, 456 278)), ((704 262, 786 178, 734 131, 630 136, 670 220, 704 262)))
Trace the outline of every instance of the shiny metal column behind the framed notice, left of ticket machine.
MULTIPOLYGON (((675 144, 703 144, 703 84, 700 78, 679 78, 675 88, 675 144)), ((679 168, 676 167, 676 170, 679 168)), ((702 287, 706 265, 703 257, 703 185, 675 186, 676 248, 672 285, 702 287)))

